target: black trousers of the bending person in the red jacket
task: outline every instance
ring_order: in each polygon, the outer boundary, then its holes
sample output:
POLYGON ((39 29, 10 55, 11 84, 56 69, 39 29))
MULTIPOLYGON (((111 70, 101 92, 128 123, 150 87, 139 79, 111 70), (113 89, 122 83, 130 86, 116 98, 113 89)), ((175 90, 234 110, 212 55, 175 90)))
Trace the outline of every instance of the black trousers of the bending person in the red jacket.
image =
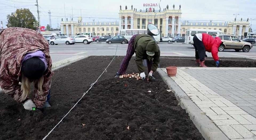
POLYGON ((194 47, 195 47, 195 58, 200 59, 200 61, 205 60, 205 45, 200 41, 196 35, 193 37, 194 47))

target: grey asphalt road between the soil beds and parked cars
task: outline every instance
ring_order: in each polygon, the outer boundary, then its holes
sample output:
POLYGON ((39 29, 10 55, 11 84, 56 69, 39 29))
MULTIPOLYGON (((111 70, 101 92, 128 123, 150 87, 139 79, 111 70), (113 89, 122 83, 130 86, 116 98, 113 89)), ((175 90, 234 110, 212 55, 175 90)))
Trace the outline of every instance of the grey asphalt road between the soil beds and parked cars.
MULTIPOLYGON (((158 44, 161 50, 161 56, 195 56, 195 49, 193 46, 182 43, 168 44, 161 42, 158 44)), ((107 44, 105 42, 91 44, 76 43, 74 45, 49 45, 50 55, 53 62, 61 61, 75 56, 85 55, 126 55, 128 44, 107 44)), ((256 46, 255 46, 256 47, 256 46)), ((206 53, 211 57, 211 53, 206 53)), ((224 50, 218 53, 219 57, 251 57, 256 58, 256 49, 254 47, 249 53, 235 52, 234 50, 224 50)))

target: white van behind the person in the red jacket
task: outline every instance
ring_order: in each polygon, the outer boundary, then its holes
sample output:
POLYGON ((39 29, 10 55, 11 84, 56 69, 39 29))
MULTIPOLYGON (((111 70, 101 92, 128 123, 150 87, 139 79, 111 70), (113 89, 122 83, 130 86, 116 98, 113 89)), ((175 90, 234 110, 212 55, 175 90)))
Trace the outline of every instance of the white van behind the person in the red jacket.
POLYGON ((221 30, 211 30, 211 29, 187 29, 186 30, 186 34, 185 34, 185 43, 186 44, 194 44, 193 43, 193 37, 195 34, 199 34, 199 33, 206 33, 206 34, 223 34, 223 32, 221 30))

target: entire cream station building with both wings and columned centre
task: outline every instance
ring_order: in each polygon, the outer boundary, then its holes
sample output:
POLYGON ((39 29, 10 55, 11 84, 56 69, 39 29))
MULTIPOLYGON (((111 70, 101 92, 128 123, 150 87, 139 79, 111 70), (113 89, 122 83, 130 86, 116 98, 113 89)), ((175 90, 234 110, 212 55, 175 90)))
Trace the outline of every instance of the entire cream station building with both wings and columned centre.
MULTIPOLYGON (((143 4, 150 5, 150 4, 143 4)), ((157 4, 153 4, 157 5, 157 4)), ((146 29, 149 23, 154 24, 160 31, 160 36, 185 36, 187 29, 216 29, 221 30, 224 34, 247 36, 249 32, 249 19, 236 20, 232 22, 193 22, 181 21, 181 5, 179 9, 175 6, 169 9, 167 5, 163 10, 155 10, 157 6, 147 6, 146 10, 137 10, 127 8, 122 10, 120 5, 118 22, 82 22, 82 18, 78 18, 78 22, 71 21, 61 22, 61 34, 76 35, 77 33, 90 32, 93 35, 115 36, 122 29, 146 29)))

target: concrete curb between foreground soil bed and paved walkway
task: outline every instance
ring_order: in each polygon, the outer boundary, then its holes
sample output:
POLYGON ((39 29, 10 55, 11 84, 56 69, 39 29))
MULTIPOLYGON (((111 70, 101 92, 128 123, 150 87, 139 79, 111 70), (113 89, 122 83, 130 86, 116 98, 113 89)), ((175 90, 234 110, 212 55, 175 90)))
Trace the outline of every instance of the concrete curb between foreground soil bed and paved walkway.
POLYGON ((189 114, 199 132, 206 140, 228 140, 224 133, 203 113, 201 109, 186 95, 186 93, 160 68, 157 72, 166 85, 175 94, 182 109, 189 114))

